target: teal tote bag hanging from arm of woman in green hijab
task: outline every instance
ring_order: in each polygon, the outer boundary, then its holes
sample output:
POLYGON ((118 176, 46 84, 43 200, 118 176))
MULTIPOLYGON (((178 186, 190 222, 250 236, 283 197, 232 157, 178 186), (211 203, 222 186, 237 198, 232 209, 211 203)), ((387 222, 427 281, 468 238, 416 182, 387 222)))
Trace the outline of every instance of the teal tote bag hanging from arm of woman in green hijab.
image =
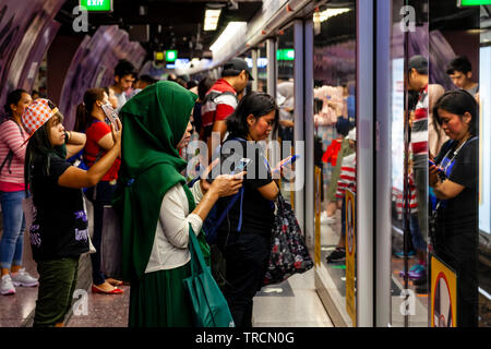
POLYGON ((205 264, 203 254, 194 234, 189 229, 189 250, 191 253, 191 276, 183 279, 196 327, 235 327, 227 300, 205 264))

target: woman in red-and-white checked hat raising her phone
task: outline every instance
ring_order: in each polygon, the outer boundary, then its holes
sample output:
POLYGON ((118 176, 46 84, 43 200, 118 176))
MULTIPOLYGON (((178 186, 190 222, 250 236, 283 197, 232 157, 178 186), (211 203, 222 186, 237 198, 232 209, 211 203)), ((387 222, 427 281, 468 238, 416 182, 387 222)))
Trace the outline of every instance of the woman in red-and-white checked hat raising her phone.
POLYGON ((29 229, 33 257, 39 273, 34 326, 62 326, 76 285, 79 258, 88 252, 87 216, 82 188, 97 184, 120 152, 115 145, 88 171, 67 159, 85 144, 85 134, 65 132, 63 117, 48 99, 29 104, 22 122, 29 134, 25 155, 26 188, 33 194, 34 219, 29 229))

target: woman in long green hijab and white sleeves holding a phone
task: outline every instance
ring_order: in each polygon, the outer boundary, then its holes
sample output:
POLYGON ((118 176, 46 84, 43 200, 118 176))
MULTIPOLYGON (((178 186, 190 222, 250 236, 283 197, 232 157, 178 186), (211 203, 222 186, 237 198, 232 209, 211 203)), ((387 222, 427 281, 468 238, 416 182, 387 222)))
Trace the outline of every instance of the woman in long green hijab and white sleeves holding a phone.
POLYGON ((158 82, 121 109, 124 124, 120 185, 113 206, 122 217, 123 279, 131 282, 130 327, 193 326, 182 279, 191 275, 189 229, 209 256, 203 220, 215 202, 235 194, 241 176, 188 188, 181 174, 196 95, 179 84, 158 82))

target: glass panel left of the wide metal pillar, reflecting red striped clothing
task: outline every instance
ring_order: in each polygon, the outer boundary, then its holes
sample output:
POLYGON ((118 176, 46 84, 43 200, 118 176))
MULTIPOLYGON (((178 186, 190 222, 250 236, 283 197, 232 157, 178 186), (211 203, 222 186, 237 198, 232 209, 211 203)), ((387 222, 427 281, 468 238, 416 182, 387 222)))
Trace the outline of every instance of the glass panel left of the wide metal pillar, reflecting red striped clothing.
POLYGON ((321 178, 314 207, 322 201, 316 217, 321 222, 315 239, 321 260, 318 273, 321 279, 328 278, 335 285, 328 292, 339 304, 338 312, 348 326, 356 324, 356 274, 350 268, 355 265, 356 249, 351 254, 347 249, 356 245, 352 234, 356 230, 351 229, 356 213, 355 4, 356 1, 344 1, 343 8, 322 5, 313 15, 314 164, 321 178), (347 200, 348 192, 352 196, 347 200))

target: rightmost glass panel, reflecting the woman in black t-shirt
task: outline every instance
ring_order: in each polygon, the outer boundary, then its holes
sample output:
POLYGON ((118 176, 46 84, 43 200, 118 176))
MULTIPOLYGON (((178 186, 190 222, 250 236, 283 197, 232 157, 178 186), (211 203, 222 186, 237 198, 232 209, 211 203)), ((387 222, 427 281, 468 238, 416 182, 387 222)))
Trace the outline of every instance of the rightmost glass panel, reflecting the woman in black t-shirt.
POLYGON ((438 1, 430 7, 430 108, 435 112, 429 145, 443 169, 430 174, 430 238, 433 255, 456 273, 454 287, 452 273, 443 268, 445 278, 440 277, 432 263, 434 326, 490 326, 489 10, 438 1))

